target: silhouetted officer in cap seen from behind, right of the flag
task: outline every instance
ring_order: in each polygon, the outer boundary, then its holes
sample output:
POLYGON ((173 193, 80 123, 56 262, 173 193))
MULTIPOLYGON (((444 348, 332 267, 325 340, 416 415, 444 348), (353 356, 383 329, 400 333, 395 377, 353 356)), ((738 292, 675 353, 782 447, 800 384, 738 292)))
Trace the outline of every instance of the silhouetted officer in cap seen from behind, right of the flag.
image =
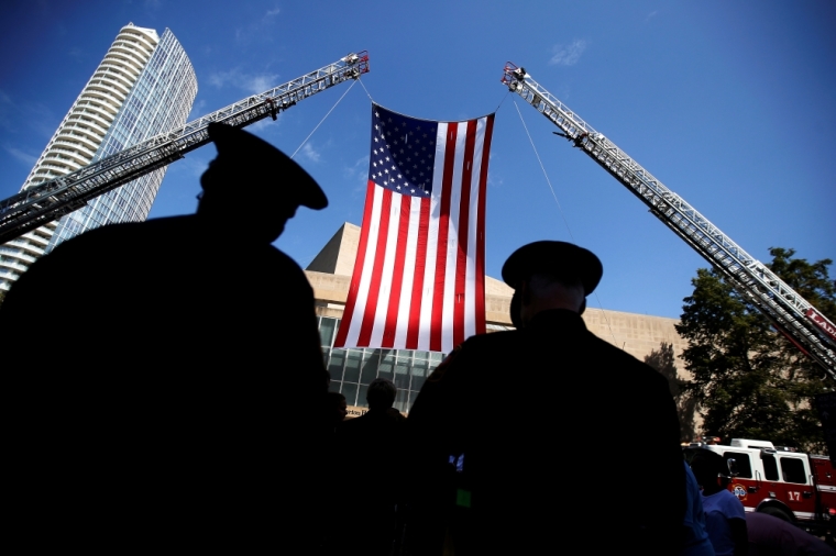
POLYGON ((518 330, 469 338, 425 383, 407 421, 417 553, 678 553, 675 407, 661 375, 586 330, 602 274, 570 243, 520 247, 503 267, 518 330))

